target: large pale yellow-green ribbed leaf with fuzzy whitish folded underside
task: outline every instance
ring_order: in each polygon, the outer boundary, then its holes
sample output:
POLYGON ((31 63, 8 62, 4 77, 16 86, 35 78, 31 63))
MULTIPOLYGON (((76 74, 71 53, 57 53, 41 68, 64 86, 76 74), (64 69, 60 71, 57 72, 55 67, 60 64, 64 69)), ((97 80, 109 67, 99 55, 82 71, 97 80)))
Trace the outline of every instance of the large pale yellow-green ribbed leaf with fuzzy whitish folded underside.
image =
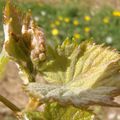
POLYGON ((55 56, 53 63, 40 68, 48 84, 29 84, 25 89, 31 95, 43 102, 53 100, 76 107, 120 106, 113 101, 120 94, 117 51, 91 41, 78 46, 65 41, 52 55, 55 56), (68 46, 72 46, 69 52, 68 46))

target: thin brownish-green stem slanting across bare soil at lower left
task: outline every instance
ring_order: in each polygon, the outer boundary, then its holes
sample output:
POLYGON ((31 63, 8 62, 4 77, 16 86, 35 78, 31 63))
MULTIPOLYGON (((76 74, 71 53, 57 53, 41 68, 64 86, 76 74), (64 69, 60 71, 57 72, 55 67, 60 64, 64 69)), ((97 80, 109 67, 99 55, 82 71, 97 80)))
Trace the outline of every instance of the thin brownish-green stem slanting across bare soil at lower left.
POLYGON ((13 103, 11 103, 8 99, 6 99, 5 97, 3 97, 2 95, 0 95, 0 102, 2 102, 3 104, 5 104, 13 112, 20 112, 21 111, 16 105, 14 105, 13 103))

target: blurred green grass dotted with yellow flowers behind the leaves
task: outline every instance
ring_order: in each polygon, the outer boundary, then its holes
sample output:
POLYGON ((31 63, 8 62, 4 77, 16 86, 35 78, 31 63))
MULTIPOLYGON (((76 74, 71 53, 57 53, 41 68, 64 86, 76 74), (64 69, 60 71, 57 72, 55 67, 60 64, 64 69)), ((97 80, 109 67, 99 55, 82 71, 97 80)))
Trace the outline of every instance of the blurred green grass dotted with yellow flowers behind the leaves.
MULTIPOLYGON (((0 11, 3 6, 4 2, 0 1, 0 11)), ((110 7, 106 6, 99 11, 91 11, 77 4, 54 6, 52 4, 19 3, 19 6, 23 10, 32 10, 33 17, 44 29, 47 40, 60 43, 66 37, 74 37, 78 42, 93 39, 98 43, 106 43, 120 50, 120 17, 113 16, 114 9, 110 7), (89 16, 91 20, 85 21, 85 16, 89 16), (59 17, 63 20, 59 20, 59 17), (68 23, 65 22, 66 18, 70 20, 68 23), (108 23, 103 22, 104 18, 108 19, 108 23), (74 20, 77 20, 79 24, 75 26, 74 20), (85 32, 86 27, 90 29, 89 32, 85 32), (52 31, 55 30, 57 33, 53 35, 52 31)), ((0 29, 2 30, 1 21, 2 12, 0 12, 0 29)))

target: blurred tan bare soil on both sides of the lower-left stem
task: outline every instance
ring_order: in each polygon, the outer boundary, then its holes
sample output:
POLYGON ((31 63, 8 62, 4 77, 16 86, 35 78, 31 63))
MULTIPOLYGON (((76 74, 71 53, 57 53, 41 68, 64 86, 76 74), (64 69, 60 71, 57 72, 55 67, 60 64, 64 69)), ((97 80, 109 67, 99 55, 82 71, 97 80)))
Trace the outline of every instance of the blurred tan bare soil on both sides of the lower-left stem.
MULTIPOLYGON (((18 69, 14 63, 7 65, 5 75, 0 80, 0 94, 19 108, 23 108, 27 102, 27 96, 22 91, 18 69)), ((0 120, 13 120, 11 116, 13 116, 12 111, 0 103, 0 120)))

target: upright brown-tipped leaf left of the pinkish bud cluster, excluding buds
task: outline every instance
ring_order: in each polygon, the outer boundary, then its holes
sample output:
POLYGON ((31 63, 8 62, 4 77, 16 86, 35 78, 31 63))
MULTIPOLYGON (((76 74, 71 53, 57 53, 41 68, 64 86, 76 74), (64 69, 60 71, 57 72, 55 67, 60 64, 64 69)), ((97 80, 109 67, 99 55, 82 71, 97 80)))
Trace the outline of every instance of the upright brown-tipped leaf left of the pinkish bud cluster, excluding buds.
POLYGON ((4 14, 3 26, 5 34, 5 50, 9 56, 17 60, 29 60, 29 49, 22 35, 23 19, 25 15, 15 7, 11 0, 7 0, 4 14))

